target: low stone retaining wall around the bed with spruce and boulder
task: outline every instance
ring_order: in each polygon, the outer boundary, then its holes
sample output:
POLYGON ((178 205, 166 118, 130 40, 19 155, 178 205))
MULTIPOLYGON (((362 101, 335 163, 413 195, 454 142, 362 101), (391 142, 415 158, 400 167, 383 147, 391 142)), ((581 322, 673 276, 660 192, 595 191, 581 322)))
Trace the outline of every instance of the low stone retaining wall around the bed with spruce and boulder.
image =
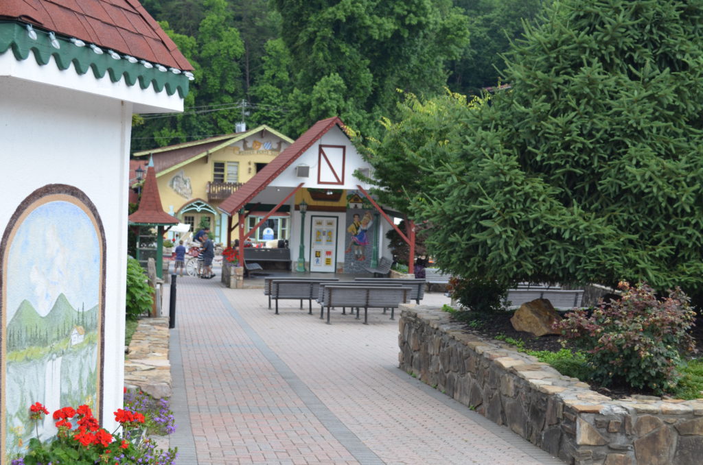
POLYGON ((574 465, 703 463, 703 400, 612 400, 449 313, 403 306, 401 369, 574 465))

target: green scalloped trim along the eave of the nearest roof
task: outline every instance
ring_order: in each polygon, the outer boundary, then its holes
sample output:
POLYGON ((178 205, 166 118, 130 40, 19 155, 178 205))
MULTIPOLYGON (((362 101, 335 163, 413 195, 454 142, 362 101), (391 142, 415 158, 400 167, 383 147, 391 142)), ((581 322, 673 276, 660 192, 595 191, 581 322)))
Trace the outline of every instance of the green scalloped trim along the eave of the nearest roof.
MULTIPOLYGON (((93 52, 89 46, 79 47, 65 37, 56 36, 60 48, 53 48, 49 39, 49 33, 34 29, 37 32, 37 39, 30 39, 25 25, 17 22, 0 22, 0 55, 12 48, 12 53, 19 60, 27 60, 30 52, 34 54, 34 59, 39 65, 46 65, 53 56, 59 70, 67 70, 73 63, 78 74, 86 74, 89 70, 97 79, 101 79, 105 74, 110 76, 112 82, 117 82, 124 77, 128 86, 134 86, 139 82, 142 89, 153 86, 154 90, 161 92, 166 89, 169 96, 178 91, 181 98, 188 95, 188 77, 181 74, 174 74, 170 71, 159 71, 156 67, 148 69, 141 63, 129 63, 129 61, 115 60, 108 55, 105 47, 102 55, 93 52)), ((138 58, 138 57, 136 57, 138 58)))

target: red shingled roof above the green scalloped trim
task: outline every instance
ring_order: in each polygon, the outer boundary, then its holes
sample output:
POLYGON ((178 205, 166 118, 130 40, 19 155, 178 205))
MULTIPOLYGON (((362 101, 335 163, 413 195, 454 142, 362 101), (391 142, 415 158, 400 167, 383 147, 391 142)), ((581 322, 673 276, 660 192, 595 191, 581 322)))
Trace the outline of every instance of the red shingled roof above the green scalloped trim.
POLYGON ((30 22, 153 63, 193 70, 137 0, 0 0, 0 18, 30 22))

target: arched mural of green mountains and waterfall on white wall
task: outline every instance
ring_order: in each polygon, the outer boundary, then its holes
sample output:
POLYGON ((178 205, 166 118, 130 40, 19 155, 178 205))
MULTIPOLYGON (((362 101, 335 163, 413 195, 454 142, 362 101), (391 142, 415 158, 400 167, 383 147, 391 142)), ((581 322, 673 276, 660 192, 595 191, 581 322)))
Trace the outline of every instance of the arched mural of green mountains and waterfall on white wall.
MULTIPOLYGON (((34 437, 28 406, 101 412, 105 234, 86 195, 48 185, 27 197, 0 249, 2 462, 34 437)), ((51 415, 39 438, 56 434, 51 415)))

